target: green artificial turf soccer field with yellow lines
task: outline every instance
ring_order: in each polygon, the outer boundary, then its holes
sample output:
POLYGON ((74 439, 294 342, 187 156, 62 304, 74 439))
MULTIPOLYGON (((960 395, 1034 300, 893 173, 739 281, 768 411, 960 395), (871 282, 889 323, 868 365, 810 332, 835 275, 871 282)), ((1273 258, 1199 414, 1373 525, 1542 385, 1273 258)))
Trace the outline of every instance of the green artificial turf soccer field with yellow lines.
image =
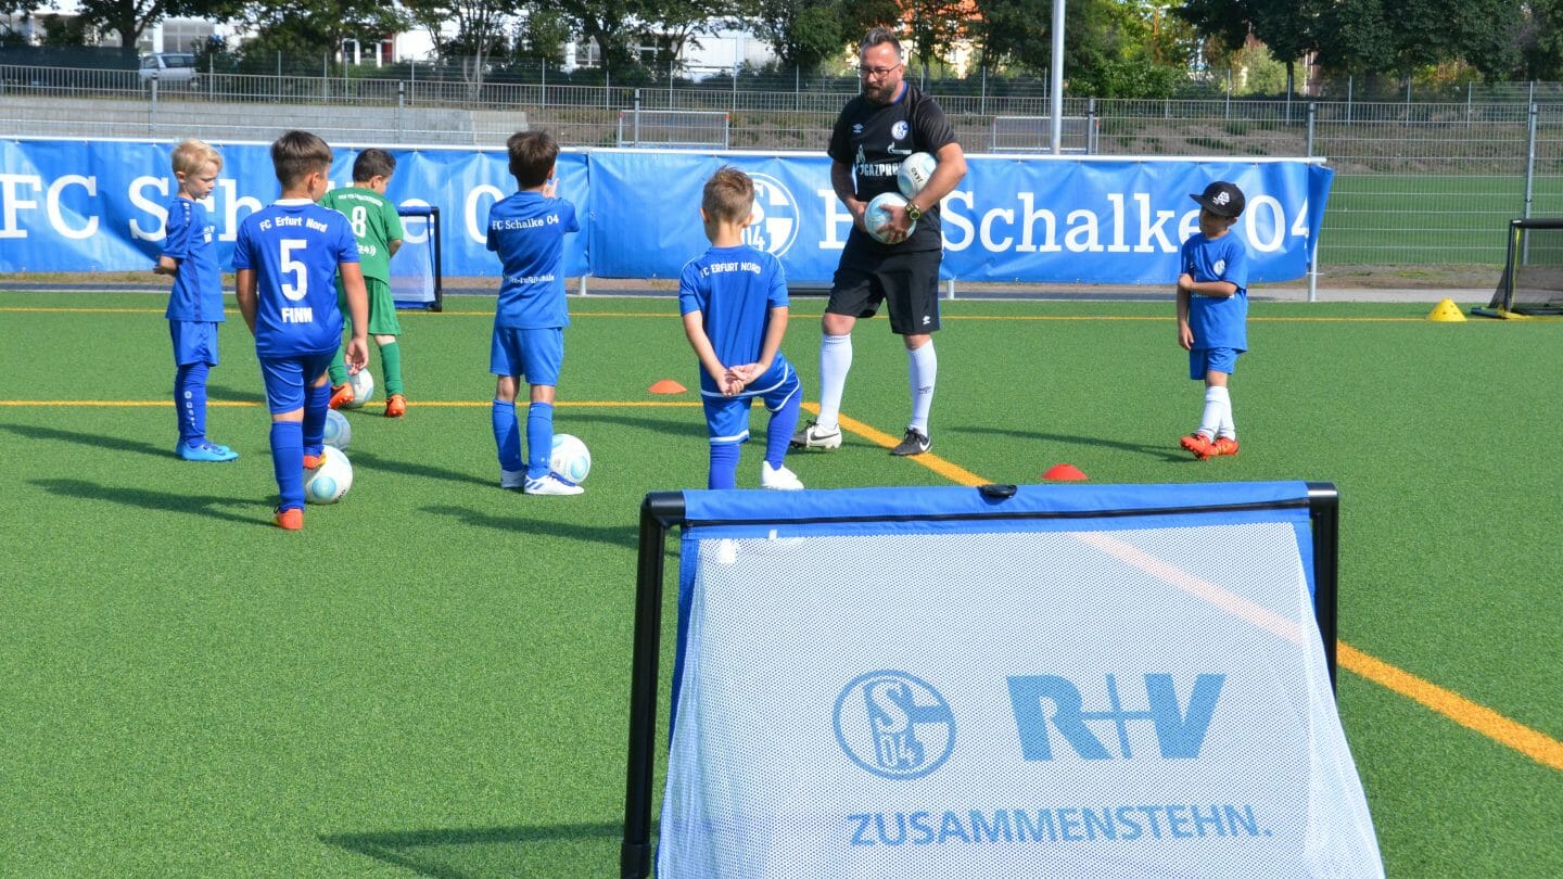
MULTIPOLYGON (((555 424, 592 450, 581 497, 497 486, 494 300, 403 314, 408 416, 350 413, 352 493, 288 533, 231 299, 208 422, 242 457, 173 457, 164 302, 0 292, 0 874, 616 874, 639 504, 705 485, 696 394, 649 393, 697 385, 677 303, 570 299, 555 424)), ((783 344, 810 404, 822 305, 794 302, 783 344)), ((1177 446, 1202 391, 1171 297, 946 303, 911 460, 875 444, 905 427, 907 364, 864 321, 861 427, 789 466, 1333 482, 1339 713, 1388 874, 1560 876, 1563 324, 1427 308, 1255 302, 1243 450, 1211 461, 1177 446)))

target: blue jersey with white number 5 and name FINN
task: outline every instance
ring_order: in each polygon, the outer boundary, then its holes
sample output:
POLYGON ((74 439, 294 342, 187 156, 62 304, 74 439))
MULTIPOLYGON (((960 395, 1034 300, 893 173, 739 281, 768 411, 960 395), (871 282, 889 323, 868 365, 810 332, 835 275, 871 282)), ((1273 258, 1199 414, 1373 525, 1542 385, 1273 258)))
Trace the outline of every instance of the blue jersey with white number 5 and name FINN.
POLYGON ((358 241, 347 217, 308 199, 284 199, 244 217, 233 267, 255 271, 255 353, 336 350, 342 343, 336 267, 356 261, 358 241))

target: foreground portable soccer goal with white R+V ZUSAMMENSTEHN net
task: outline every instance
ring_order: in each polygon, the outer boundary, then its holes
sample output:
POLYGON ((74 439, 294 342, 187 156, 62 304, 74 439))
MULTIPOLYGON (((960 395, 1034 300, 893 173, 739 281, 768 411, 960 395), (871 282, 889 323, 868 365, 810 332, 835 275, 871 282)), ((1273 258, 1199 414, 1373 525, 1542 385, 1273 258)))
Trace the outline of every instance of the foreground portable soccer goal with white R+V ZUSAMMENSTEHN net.
POLYGON ((1304 482, 649 494, 621 876, 1382 877, 1336 522, 1304 482))

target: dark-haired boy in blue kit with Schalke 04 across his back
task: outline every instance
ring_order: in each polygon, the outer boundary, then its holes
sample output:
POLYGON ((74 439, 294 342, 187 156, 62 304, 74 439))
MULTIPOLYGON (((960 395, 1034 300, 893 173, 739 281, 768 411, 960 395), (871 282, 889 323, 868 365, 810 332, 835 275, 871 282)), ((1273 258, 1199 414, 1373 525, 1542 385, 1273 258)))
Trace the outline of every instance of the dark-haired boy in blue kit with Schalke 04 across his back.
POLYGON ((558 196, 553 177, 560 144, 547 131, 517 131, 505 141, 517 192, 489 208, 488 249, 505 277, 494 310, 489 372, 494 385, 494 446, 499 483, 525 494, 580 494, 580 485, 549 469, 553 452, 553 396, 564 364, 564 236, 580 231, 575 205, 558 196), (527 458, 516 418, 519 380, 531 385, 527 458))

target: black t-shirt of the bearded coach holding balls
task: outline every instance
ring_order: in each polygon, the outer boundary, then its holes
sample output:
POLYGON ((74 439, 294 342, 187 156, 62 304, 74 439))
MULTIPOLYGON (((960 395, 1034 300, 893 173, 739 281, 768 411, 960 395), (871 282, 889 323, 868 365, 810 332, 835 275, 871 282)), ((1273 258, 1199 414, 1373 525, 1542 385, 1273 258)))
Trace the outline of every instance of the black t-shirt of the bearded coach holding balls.
MULTIPOLYGON (((874 103, 858 95, 847 102, 830 133, 830 149, 825 153, 839 163, 852 166, 857 197, 867 202, 880 192, 896 192, 896 172, 911 153, 928 153, 935 158, 939 149, 955 142, 955 130, 944 117, 938 102, 905 83, 900 97, 891 103, 874 103)), ((905 253, 908 250, 941 250, 944 239, 939 224, 939 206, 928 205, 917 228, 903 244, 880 244, 855 224, 847 236, 847 250, 866 249, 877 253, 905 253)))

